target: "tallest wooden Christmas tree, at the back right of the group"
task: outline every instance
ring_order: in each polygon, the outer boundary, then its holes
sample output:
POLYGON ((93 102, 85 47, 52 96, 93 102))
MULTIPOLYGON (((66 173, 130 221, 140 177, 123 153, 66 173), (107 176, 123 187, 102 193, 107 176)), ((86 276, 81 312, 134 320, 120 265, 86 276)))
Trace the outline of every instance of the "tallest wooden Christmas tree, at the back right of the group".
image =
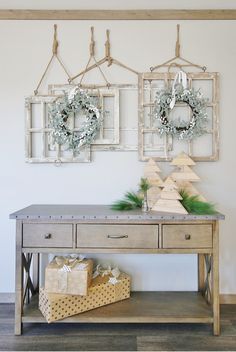
POLYGON ((172 172, 171 177, 176 182, 178 190, 184 189, 189 195, 197 195, 199 200, 206 201, 191 183, 200 180, 198 175, 190 168, 190 166, 195 165, 195 162, 187 154, 182 152, 173 159, 171 165, 177 167, 177 169, 172 172))

